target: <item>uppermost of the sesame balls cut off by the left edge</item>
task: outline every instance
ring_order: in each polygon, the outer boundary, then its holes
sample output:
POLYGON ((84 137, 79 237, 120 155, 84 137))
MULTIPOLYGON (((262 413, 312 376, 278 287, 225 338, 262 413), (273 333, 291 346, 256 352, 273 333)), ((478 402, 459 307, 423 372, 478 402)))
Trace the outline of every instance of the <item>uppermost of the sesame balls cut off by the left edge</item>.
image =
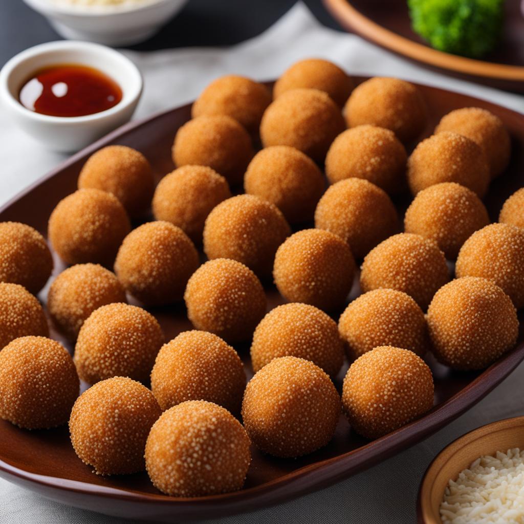
POLYGON ((24 286, 36 294, 53 270, 53 259, 38 231, 19 222, 0 222, 0 282, 24 286))

